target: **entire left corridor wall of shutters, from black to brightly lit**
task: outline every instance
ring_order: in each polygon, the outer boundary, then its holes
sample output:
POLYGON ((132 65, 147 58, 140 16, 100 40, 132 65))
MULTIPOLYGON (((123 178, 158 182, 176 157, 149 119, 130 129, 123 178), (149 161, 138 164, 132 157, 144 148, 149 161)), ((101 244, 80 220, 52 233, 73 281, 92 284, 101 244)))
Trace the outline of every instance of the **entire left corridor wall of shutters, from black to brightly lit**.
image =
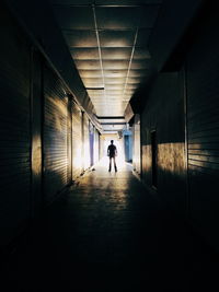
MULTIPOLYGON (((89 118, 84 113, 82 119, 80 105, 2 2, 0 27, 0 246, 4 248, 81 174, 83 142, 89 153, 89 118)), ((84 170, 90 155, 85 161, 84 170)))

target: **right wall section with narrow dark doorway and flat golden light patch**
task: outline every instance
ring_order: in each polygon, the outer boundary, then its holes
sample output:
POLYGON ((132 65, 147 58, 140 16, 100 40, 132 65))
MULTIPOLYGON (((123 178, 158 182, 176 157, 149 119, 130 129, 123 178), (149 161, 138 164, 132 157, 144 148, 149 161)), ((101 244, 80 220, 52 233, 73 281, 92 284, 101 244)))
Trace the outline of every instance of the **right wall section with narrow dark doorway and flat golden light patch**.
POLYGON ((141 114, 142 179, 185 213, 184 94, 181 73, 160 73, 141 114), (152 141, 153 140, 153 141, 152 141), (153 149, 152 149, 153 144, 153 149))

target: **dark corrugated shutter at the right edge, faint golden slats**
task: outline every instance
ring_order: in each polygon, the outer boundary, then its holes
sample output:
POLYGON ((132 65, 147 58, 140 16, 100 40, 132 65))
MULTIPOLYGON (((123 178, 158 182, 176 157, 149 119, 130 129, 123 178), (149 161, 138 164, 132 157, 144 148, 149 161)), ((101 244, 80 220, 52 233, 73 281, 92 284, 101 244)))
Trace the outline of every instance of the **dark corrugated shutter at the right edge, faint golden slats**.
POLYGON ((219 21, 209 20, 187 58, 188 186, 193 221, 219 243, 219 21))

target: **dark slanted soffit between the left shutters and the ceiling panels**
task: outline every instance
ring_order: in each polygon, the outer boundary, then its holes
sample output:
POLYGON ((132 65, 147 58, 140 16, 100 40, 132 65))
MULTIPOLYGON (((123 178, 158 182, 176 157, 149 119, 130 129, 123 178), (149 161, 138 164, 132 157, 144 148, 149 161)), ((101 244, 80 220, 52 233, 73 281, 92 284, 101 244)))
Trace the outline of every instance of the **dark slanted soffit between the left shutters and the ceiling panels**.
MULTIPOLYGON (((93 104, 83 86, 81 78, 66 45, 64 36, 53 15, 49 1, 44 0, 3 0, 16 15, 19 21, 38 43, 47 58, 74 94, 77 101, 89 113, 94 122, 93 104), (53 32, 53 33, 51 33, 53 32)), ((97 125, 100 126, 100 125, 97 125)))

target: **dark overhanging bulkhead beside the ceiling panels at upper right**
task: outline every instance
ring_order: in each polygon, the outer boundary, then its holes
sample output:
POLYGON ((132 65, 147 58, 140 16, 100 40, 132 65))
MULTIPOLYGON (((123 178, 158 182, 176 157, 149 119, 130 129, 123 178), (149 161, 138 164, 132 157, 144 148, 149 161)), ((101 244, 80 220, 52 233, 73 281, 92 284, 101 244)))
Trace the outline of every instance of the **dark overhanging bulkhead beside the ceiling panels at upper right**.
MULTIPOLYGON (((207 0, 211 1, 211 0, 207 0)), ((164 0, 159 17, 149 39, 149 50, 158 70, 176 68, 181 62, 183 45, 181 44, 177 56, 174 52, 181 38, 191 25, 194 16, 203 8, 205 0, 164 0), (174 58, 174 63, 172 59, 174 58)), ((177 69, 178 70, 178 69, 177 69)))

